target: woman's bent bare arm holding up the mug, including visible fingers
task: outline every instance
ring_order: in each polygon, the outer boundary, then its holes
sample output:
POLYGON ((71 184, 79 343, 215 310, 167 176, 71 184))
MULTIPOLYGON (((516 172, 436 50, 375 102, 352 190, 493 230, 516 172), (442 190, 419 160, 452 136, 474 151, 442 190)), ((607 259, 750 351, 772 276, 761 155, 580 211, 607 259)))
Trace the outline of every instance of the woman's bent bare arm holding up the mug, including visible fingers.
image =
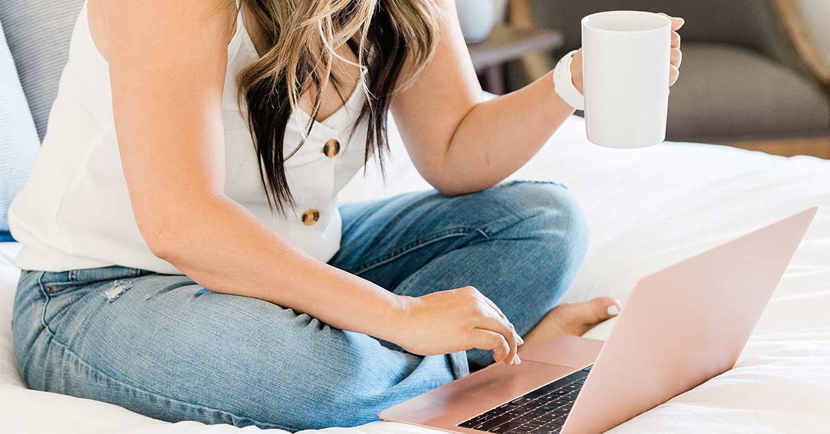
MULTIPOLYGON (((447 195, 472 193, 492 187, 527 163, 574 108, 554 91, 552 72, 520 90, 484 100, 455 2, 436 1, 445 13, 435 56, 393 100, 392 110, 408 153, 427 182, 447 195)), ((675 30, 681 25, 676 18, 675 30)), ((672 38, 673 83, 680 66, 680 37, 675 32, 672 38)), ((582 91, 581 50, 574 56, 572 75, 582 91)))

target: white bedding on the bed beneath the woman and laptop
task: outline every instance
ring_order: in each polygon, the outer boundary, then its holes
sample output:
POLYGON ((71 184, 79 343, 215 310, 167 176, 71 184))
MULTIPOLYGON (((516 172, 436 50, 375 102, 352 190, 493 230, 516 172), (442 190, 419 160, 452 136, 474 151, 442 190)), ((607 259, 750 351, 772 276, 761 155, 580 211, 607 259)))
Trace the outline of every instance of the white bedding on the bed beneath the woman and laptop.
MULTIPOLYGON (((400 139, 393 139, 392 148, 386 180, 369 168, 349 184, 342 201, 427 188, 400 139)), ((587 142, 582 119, 574 117, 511 178, 565 183, 585 209, 591 231, 588 256, 564 301, 613 295, 624 302, 640 277, 818 205, 818 216, 735 368, 612 432, 827 432, 830 162, 709 144, 604 149, 587 142)), ((13 243, 0 244, 0 432, 260 431, 195 422, 170 424, 102 402, 27 390, 12 358, 12 296, 19 271, 10 260, 16 250, 13 243)), ((588 336, 603 339, 612 328, 609 321, 588 336)), ((321 431, 434 433, 391 422, 321 431)))

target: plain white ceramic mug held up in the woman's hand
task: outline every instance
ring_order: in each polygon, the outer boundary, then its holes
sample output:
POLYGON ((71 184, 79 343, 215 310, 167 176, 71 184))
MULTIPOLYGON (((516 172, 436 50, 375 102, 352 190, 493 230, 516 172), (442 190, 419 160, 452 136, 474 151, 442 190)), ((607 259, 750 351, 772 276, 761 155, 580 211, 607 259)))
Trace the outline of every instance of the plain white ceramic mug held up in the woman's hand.
POLYGON ((643 148, 666 139, 671 19, 652 12, 599 12, 582 19, 588 140, 643 148))

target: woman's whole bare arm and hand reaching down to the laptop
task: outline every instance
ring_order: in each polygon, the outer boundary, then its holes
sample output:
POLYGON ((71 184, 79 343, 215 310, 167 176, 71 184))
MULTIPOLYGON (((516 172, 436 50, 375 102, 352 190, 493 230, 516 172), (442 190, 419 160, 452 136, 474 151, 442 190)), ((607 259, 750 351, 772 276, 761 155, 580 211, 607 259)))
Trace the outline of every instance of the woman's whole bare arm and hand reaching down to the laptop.
POLYGON ((130 202, 150 250, 211 290, 267 300, 417 354, 481 348, 513 362, 520 339, 477 290, 394 295, 305 255, 223 193, 221 99, 235 15, 217 13, 225 3, 94 3, 130 202))

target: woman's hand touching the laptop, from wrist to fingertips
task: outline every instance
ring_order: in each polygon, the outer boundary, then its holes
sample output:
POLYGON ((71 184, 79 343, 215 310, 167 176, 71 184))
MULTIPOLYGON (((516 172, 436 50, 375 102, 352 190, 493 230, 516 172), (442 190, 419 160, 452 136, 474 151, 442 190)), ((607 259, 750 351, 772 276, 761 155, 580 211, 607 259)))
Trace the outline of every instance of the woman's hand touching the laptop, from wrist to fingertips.
POLYGON ((390 339, 413 354, 450 354, 467 349, 493 351, 493 360, 521 363, 524 343, 501 310, 472 286, 420 297, 403 297, 404 318, 390 339))

